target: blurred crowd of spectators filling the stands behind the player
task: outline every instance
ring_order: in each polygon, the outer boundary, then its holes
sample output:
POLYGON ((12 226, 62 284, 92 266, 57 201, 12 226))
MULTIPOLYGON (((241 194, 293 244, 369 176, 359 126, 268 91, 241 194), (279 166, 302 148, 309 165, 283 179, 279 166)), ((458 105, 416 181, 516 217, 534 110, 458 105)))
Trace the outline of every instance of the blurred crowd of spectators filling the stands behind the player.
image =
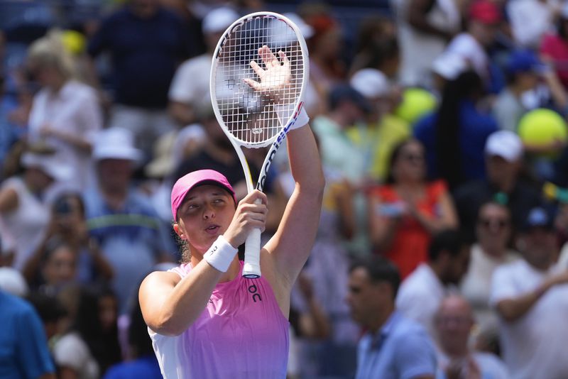
MULTIPOLYGON (((246 194, 209 70, 261 10, 306 39, 327 182, 289 378, 568 378, 568 2, 381 5, 6 1, 0 378, 161 377, 138 285, 180 260, 178 177, 246 194)), ((263 238, 295 184, 276 160, 263 238)))

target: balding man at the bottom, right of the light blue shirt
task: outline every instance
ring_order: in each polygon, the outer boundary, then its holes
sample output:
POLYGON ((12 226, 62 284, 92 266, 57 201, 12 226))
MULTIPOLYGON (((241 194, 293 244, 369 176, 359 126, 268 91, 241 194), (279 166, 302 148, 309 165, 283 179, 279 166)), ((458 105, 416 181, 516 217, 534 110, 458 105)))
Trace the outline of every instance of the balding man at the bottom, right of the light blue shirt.
POLYGON ((510 378, 497 356, 469 348, 473 327, 474 314, 463 297, 451 295, 442 300, 435 316, 439 345, 437 379, 510 378))

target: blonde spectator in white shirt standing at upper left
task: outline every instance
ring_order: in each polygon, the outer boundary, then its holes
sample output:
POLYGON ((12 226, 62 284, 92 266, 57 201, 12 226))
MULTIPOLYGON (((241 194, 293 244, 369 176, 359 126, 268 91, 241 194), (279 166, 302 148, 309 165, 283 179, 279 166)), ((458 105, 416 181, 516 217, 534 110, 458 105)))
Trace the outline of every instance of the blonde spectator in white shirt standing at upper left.
POLYGON ((72 169, 72 185, 85 189, 92 180, 92 143, 102 128, 97 94, 75 78, 75 62, 60 33, 49 33, 31 45, 28 66, 41 86, 33 98, 28 141, 53 146, 55 157, 72 169))

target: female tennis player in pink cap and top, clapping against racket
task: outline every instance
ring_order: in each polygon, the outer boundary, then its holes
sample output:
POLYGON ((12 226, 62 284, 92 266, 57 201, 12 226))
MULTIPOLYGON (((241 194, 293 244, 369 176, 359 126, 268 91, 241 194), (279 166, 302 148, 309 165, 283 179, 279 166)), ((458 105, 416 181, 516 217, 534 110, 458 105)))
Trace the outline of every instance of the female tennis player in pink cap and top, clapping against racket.
MULTIPOLYGON (((273 90, 269 66, 261 85, 246 82, 273 90)), ((300 115, 288 133, 296 185, 261 250, 261 278, 241 276, 236 252, 253 229, 264 229, 266 195, 254 190, 236 204, 229 182, 213 170, 190 172, 173 186, 173 228, 187 245, 184 261, 148 275, 139 292, 164 378, 285 378, 290 291, 315 239, 324 187, 307 121, 300 115)))

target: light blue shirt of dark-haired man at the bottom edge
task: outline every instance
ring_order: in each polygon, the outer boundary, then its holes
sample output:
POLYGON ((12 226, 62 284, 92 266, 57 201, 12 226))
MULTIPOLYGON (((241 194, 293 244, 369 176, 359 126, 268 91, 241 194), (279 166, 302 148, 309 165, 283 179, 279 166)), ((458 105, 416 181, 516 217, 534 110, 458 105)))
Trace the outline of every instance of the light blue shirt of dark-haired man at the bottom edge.
POLYGON ((410 379, 436 373, 436 351, 420 324, 399 312, 357 347, 356 379, 410 379))

